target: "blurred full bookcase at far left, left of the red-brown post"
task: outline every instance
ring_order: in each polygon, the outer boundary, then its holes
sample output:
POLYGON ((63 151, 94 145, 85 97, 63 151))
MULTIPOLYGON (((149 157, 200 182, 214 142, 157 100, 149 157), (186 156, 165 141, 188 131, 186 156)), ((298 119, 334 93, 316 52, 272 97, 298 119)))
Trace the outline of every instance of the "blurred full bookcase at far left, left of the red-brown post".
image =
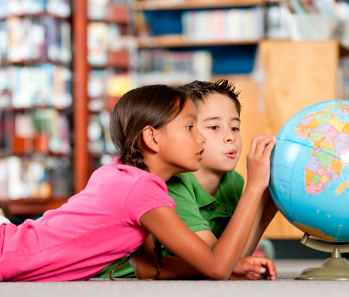
POLYGON ((72 194, 70 3, 0 11, 0 208, 28 217, 72 194))

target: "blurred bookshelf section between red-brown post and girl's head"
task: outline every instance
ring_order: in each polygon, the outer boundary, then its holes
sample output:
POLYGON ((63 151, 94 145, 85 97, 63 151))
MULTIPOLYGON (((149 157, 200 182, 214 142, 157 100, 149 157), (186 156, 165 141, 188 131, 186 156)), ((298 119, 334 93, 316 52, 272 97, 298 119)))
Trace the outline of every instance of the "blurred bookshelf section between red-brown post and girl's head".
POLYGON ((86 172, 90 174, 101 165, 112 161, 114 151, 108 127, 110 112, 124 93, 137 86, 134 67, 138 56, 138 44, 134 36, 131 1, 87 1, 86 9, 85 143, 89 160, 86 172))

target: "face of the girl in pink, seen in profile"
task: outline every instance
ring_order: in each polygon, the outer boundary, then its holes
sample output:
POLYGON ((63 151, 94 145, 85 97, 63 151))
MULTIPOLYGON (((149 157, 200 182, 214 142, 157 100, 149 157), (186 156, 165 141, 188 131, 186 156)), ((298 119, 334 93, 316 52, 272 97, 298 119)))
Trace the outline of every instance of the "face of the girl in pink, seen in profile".
POLYGON ((182 111, 161 128, 159 158, 173 174, 197 171, 205 137, 198 131, 196 107, 187 100, 182 111))

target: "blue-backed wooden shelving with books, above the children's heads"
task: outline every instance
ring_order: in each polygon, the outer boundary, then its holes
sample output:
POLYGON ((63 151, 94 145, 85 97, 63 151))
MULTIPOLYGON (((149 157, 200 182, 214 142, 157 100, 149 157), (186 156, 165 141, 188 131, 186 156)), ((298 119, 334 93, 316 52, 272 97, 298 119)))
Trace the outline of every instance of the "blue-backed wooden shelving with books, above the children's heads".
MULTIPOLYGON (((159 76, 159 81, 156 76, 145 81, 178 85, 195 78, 210 80, 212 75, 251 73, 258 42, 264 38, 264 9, 265 0, 135 1, 141 65, 145 53, 146 58, 156 59, 154 64, 164 68, 152 69, 145 63, 146 69, 141 66, 140 72, 145 77, 152 72, 167 72, 166 68, 178 66, 178 60, 185 60, 186 53, 198 53, 201 62, 196 65, 201 67, 189 69, 192 79, 189 75, 178 81, 180 75, 174 73, 173 82, 170 75, 159 76), (156 54, 152 56, 152 52, 156 54), (200 73, 206 75, 197 77, 200 73)), ((143 84, 143 79, 139 82, 143 84)))

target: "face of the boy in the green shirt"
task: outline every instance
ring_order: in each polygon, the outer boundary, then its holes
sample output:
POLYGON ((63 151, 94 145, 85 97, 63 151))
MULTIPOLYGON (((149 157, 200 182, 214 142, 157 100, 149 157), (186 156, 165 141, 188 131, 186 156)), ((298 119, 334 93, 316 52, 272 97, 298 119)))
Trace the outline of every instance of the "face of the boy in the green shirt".
POLYGON ((226 95, 209 94, 199 103, 197 127, 206 137, 200 171, 221 174, 234 170, 242 150, 235 103, 226 95))

